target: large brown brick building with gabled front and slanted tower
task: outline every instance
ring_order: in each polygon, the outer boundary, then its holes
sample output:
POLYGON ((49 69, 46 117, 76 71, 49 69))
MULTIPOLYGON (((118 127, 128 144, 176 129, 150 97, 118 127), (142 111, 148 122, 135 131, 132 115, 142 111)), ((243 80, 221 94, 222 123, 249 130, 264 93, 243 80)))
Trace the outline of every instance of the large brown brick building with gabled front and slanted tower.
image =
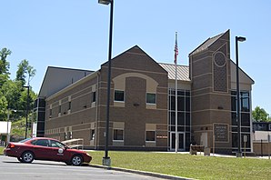
MULTIPOLYGON (((83 138, 90 149, 105 148, 107 66, 97 71, 48 67, 35 102, 37 135, 83 138)), ((239 69, 241 136, 252 149, 251 90, 239 69)), ((229 31, 208 38, 189 54, 189 65, 157 63, 139 46, 112 59, 109 149, 174 151, 190 144, 216 152, 237 149, 236 64, 229 31)))

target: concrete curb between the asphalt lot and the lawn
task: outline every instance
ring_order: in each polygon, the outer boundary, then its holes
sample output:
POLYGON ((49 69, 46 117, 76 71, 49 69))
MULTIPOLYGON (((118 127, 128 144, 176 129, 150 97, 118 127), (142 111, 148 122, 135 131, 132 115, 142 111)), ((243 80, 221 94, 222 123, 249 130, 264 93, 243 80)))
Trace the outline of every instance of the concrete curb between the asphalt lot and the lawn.
POLYGON ((192 178, 175 176, 175 175, 164 175, 164 174, 151 173, 151 172, 146 172, 146 171, 125 169, 125 168, 121 168, 121 167, 108 167, 105 165, 91 165, 91 164, 89 164, 89 166, 96 167, 96 168, 103 168, 103 169, 107 169, 107 170, 115 170, 115 171, 122 171, 122 172, 126 172, 126 173, 133 173, 133 174, 138 174, 138 175, 148 175, 148 176, 164 178, 164 179, 175 179, 175 180, 191 180, 192 179, 192 178))

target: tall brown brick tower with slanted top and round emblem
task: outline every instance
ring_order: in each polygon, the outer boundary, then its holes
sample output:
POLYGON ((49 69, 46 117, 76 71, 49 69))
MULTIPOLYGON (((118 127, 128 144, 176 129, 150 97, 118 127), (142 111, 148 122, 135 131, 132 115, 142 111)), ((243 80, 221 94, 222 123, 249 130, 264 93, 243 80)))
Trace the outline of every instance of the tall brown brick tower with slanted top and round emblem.
POLYGON ((189 55, 192 140, 231 152, 230 40, 226 33, 208 38, 189 55))

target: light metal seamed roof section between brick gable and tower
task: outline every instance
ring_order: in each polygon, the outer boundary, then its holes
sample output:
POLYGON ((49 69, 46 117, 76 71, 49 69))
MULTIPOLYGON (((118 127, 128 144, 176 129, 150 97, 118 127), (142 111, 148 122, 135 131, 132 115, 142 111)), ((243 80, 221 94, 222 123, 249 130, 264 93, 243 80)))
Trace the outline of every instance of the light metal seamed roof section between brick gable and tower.
MULTIPOLYGON (((168 79, 176 79, 176 67, 172 64, 159 63, 168 73, 168 79)), ((189 66, 177 65, 177 80, 180 81, 191 81, 189 79, 189 66)))

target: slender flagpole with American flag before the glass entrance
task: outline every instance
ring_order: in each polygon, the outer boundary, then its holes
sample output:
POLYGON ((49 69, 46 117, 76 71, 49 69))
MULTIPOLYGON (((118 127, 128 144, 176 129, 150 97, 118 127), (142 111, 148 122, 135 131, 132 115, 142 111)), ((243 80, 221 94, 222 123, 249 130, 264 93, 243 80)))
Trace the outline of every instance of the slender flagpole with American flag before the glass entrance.
POLYGON ((177 82, 177 55, 178 55, 178 46, 177 46, 177 32, 176 32, 176 45, 175 45, 175 129, 176 129, 176 134, 175 134, 175 152, 178 152, 178 97, 177 97, 177 89, 178 89, 178 82, 177 82))

